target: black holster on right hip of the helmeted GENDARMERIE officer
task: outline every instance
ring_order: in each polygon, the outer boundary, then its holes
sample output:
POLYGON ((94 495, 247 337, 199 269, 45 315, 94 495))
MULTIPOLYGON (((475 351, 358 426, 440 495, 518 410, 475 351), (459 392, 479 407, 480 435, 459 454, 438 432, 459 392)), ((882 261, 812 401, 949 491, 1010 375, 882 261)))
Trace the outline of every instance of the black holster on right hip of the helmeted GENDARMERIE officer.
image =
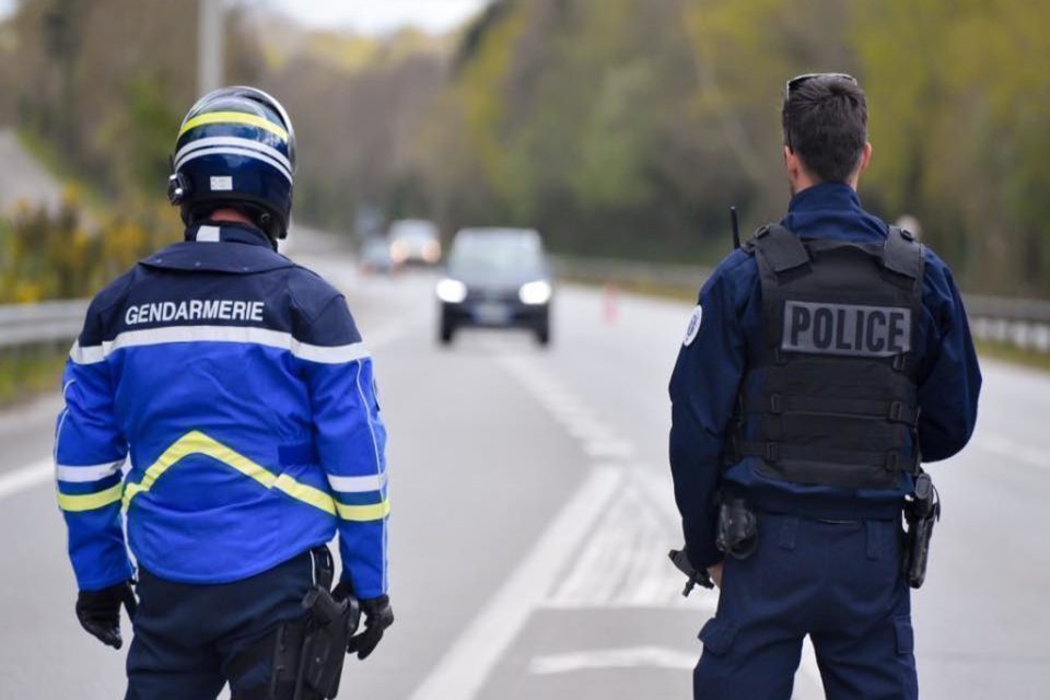
POLYGON ((347 644, 358 629, 354 597, 336 600, 329 591, 334 563, 327 547, 312 550, 314 585, 303 598, 305 616, 284 622, 242 652, 226 669, 231 680, 269 662, 269 682, 240 691, 233 700, 323 700, 339 692, 347 644))

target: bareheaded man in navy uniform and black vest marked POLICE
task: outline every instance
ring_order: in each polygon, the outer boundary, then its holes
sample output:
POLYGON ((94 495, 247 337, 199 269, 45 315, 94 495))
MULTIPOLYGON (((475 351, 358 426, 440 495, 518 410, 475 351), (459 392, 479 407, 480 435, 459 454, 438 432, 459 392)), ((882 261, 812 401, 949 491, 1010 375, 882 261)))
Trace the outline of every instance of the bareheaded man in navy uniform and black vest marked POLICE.
POLYGON ((788 215, 703 285, 670 381, 686 551, 721 588, 695 697, 788 700, 808 634, 829 699, 913 699, 901 511, 980 370, 948 267, 861 208, 856 81, 791 80, 782 121, 788 215))

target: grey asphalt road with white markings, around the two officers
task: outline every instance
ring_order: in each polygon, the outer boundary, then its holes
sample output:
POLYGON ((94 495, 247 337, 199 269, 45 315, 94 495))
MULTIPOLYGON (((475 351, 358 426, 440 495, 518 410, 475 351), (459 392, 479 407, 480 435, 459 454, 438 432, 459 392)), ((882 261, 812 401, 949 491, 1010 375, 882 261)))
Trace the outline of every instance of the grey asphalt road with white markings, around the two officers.
MULTIPOLYGON (((389 428, 397 615, 343 698, 691 697, 708 592, 680 596, 666 383, 686 304, 563 287, 553 345, 435 343, 433 276, 363 279, 320 237, 291 248, 347 291, 389 428), (611 313, 610 313, 611 312, 611 313)), ((944 500, 914 597, 922 697, 1050 697, 1050 376, 987 363, 978 435, 932 465, 944 500)), ((56 380, 57 382, 57 380, 56 380)), ((124 652, 73 617, 46 397, 0 416, 0 700, 119 698, 124 652)), ((820 698, 804 661, 797 698, 820 698)))

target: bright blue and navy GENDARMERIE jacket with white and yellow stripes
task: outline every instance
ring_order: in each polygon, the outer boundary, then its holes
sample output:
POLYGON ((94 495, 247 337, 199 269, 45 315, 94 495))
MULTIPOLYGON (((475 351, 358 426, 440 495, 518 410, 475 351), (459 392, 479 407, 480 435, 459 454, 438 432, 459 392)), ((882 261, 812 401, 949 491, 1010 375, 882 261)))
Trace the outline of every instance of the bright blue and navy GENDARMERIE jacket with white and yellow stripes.
POLYGON ((343 296, 240 224, 190 226, 92 301, 66 365, 58 502, 81 590, 139 564, 220 584, 339 534, 387 592, 386 430, 343 296), (125 463, 127 462, 127 465, 125 463))

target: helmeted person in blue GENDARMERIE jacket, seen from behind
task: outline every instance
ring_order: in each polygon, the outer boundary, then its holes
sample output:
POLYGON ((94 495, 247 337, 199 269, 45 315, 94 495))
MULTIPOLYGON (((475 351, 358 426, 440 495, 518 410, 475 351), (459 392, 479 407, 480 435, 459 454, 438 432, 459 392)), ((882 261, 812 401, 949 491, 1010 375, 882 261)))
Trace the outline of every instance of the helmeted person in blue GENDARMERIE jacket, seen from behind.
POLYGON ((295 136, 273 97, 202 97, 173 168, 185 241, 95 296, 63 377, 55 457, 77 616, 120 649, 127 608, 129 700, 215 698, 226 682, 244 700, 319 698, 295 666, 337 532, 336 638, 364 658, 393 622, 372 360, 343 296, 277 253, 295 136), (346 641, 354 599, 364 631, 346 641))

